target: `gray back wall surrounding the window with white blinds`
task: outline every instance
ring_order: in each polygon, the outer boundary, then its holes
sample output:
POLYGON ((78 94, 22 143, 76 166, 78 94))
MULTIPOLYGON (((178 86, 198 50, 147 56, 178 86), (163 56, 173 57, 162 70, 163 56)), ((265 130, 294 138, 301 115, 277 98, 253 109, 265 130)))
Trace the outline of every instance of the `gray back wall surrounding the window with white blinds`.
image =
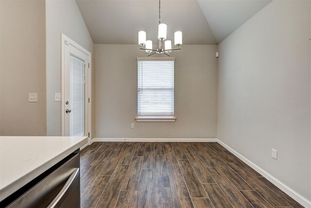
POLYGON ((217 45, 184 45, 175 57, 175 122, 136 122, 138 45, 95 44, 97 138, 216 138, 217 45), (131 128, 135 123, 135 128, 131 128))

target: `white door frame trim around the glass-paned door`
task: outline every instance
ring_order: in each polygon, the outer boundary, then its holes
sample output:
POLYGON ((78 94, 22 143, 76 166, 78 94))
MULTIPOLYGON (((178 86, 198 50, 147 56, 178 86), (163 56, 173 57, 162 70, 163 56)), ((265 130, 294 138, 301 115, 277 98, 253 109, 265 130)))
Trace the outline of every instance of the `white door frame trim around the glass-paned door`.
MULTIPOLYGON (((75 41, 71 40, 68 36, 64 35, 61 33, 61 136, 65 136, 65 47, 67 45, 71 45, 78 49, 79 51, 85 53, 88 55, 88 79, 86 80, 87 87, 86 87, 86 96, 85 98, 89 98, 89 102, 87 105, 87 117, 86 117, 86 125, 88 125, 88 132, 89 132, 89 137, 88 137, 88 142, 86 144, 89 145, 91 144, 92 141, 92 54, 91 52, 87 51, 84 49, 82 46, 80 46, 78 43, 75 41)), ((87 135, 87 132, 86 132, 87 135)), ((83 146, 85 147, 85 146, 83 146)))

